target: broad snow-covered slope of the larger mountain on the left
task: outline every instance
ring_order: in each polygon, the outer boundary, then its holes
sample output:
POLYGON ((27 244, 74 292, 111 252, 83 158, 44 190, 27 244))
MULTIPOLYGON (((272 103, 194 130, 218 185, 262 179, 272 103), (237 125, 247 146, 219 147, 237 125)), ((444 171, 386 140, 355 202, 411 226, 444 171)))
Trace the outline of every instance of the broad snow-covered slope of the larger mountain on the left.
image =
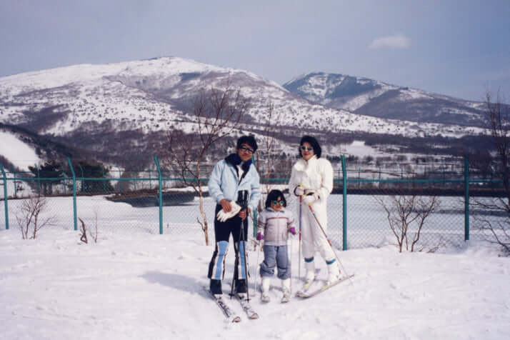
POLYGON ((253 125, 264 121, 271 102, 284 116, 284 125, 295 129, 405 136, 479 132, 443 124, 416 126, 412 121, 378 119, 321 105, 325 103, 311 104, 248 71, 175 57, 76 65, 0 78, 0 121, 56 136, 98 124, 112 131, 186 129, 196 94, 211 86, 224 88, 227 82, 251 100, 249 122, 253 125))

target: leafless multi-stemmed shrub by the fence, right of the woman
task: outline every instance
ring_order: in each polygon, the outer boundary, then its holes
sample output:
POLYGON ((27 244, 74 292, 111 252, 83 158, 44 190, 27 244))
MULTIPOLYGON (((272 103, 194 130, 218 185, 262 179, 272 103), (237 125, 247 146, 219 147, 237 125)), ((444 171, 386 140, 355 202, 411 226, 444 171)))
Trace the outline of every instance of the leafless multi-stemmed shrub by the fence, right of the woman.
POLYGON ((386 211, 389 227, 396 238, 399 252, 402 252, 404 246, 406 251, 415 251, 425 220, 439 207, 439 199, 436 196, 424 198, 416 195, 374 196, 374 199, 386 211), (416 228, 411 236, 413 225, 416 228), (409 243, 411 249, 409 249, 409 243))

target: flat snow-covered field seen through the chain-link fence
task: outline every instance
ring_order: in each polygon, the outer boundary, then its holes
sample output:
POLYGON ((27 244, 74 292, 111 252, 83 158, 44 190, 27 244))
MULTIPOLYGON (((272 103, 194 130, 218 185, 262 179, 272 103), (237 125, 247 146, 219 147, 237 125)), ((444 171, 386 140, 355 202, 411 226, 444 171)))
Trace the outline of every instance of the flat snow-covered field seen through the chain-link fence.
MULTIPOLYGON (((0 198, 2 194, 0 193, 0 198)), ((449 248, 464 244, 464 206, 456 197, 441 197, 441 209, 431 214, 421 231, 420 245, 425 250, 436 246, 449 248)), ((17 228, 16 214, 23 200, 9 199, 9 225, 17 228)), ((0 228, 4 228, 4 202, 1 202, 0 228)), ((298 205, 296 199, 287 197, 289 209, 298 205)), ((214 201, 204 199, 204 210, 212 223, 214 201)), ((347 243, 349 249, 366 246, 383 246, 395 242, 395 236, 389 229, 386 213, 370 195, 349 195, 347 197, 347 243)), ((159 208, 150 206, 134 208, 129 204, 109 201, 105 196, 79 196, 76 199, 77 216, 84 220, 87 227, 98 225, 106 234, 141 233, 159 234, 159 208)), ((298 211, 294 211, 296 216, 298 211)), ((303 211, 302 214, 309 214, 303 211)), ((53 216, 54 228, 70 230, 74 228, 73 200, 71 196, 48 199, 46 211, 41 216, 53 216)), ((163 234, 200 234, 196 219, 199 217, 199 199, 186 204, 163 207, 163 234)), ((496 219, 496 217, 493 217, 496 219)), ((331 195, 328 199, 328 236, 335 246, 343 244, 342 196, 331 195)), ((79 224, 79 222, 78 222, 79 224)), ((415 224, 409 227, 414 231, 415 224)), ((250 227, 251 230, 251 227, 250 227)), ((250 231, 251 232, 251 231, 250 231)), ((213 228, 209 229, 213 238, 213 228)), ((481 235, 471 230, 471 239, 480 239, 481 235)))

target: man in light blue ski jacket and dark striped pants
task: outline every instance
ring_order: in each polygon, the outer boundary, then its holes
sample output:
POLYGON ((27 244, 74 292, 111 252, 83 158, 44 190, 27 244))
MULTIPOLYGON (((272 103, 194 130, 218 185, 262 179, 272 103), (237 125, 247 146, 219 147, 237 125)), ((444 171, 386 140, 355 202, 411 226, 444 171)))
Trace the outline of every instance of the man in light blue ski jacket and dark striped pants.
POLYGON ((221 279, 224 277, 230 234, 234 239, 236 251, 234 287, 237 294, 246 294, 247 291, 247 266, 244 259, 248 238, 246 217, 250 211, 256 209, 260 199, 259 173, 251 163, 251 157, 256 149, 254 136, 241 136, 237 141, 236 153, 219 161, 209 177, 209 195, 216 201, 214 212, 216 247, 208 272, 212 294, 222 294, 221 279))

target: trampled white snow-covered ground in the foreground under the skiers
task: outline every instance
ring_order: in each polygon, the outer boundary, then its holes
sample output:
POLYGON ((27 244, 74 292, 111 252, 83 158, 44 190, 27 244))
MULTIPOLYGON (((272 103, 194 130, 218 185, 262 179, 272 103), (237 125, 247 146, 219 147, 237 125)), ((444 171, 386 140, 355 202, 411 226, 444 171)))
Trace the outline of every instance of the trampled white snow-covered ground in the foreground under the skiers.
MULTIPOLYGON (((81 211, 87 204, 100 206, 79 198, 81 211)), ((135 216, 129 210, 136 209, 121 209, 126 219, 135 216)), ((510 258, 481 241, 442 254, 399 254, 391 245, 337 250, 345 271, 355 274, 351 281, 309 300, 280 304, 274 279, 269 304, 251 291, 258 320, 246 319, 239 304, 228 300, 243 319, 231 324, 203 289, 214 240, 204 245, 196 228, 163 235, 122 229, 110 209, 99 216, 97 243, 90 236, 89 244, 79 241, 69 223, 41 229, 35 240, 22 240, 14 223, 0 230, 0 339, 508 339, 510 334, 510 258), (109 222, 114 232, 108 231, 109 222)), ((296 291, 299 247, 296 239, 290 245, 296 291)), ((252 250, 249 259, 254 272, 262 256, 252 250)), ((231 247, 224 291, 233 262, 231 247)), ((317 266, 324 279, 325 265, 317 266)))

